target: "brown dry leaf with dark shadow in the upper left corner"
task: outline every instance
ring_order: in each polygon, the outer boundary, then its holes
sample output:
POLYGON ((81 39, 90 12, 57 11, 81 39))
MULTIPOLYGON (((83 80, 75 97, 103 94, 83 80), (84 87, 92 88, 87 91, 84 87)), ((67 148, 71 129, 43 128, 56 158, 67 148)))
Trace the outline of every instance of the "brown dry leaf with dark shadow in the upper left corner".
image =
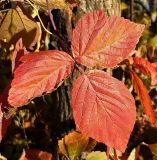
POLYGON ((0 27, 0 41, 14 44, 19 38, 23 39, 26 47, 36 44, 39 37, 39 28, 19 6, 10 9, 0 27))

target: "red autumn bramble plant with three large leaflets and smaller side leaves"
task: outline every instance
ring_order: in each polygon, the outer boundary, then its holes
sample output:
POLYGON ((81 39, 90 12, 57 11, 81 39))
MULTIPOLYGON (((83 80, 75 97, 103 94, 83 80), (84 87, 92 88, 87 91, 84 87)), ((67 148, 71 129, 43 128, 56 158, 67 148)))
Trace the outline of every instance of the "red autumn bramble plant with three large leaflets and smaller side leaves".
MULTIPOLYGON (((53 92, 74 70, 78 70, 71 91, 77 130, 124 152, 136 121, 135 101, 125 84, 105 69, 119 65, 129 68, 144 112, 154 123, 151 99, 132 69, 139 69, 155 83, 155 67, 143 58, 131 57, 143 31, 142 24, 118 16, 108 17, 104 11, 95 10, 77 22, 72 31, 71 52, 28 52, 22 40, 18 40, 12 58, 13 79, 6 89, 8 105, 21 107, 36 97, 53 92)), ((1 107, 6 105, 3 101, 1 98, 1 107)))

